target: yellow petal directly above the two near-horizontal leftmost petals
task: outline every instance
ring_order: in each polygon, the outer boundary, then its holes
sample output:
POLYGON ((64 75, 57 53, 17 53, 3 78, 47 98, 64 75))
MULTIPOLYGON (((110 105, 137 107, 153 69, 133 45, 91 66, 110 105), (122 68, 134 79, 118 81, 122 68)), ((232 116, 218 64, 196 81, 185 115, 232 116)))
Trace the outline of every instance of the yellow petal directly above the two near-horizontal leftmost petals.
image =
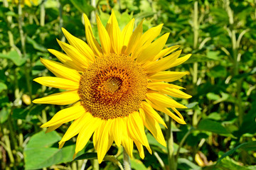
POLYGON ((80 74, 75 69, 65 67, 64 64, 54 62, 51 60, 45 60, 41 58, 41 62, 50 70, 56 77, 70 79, 72 81, 80 81, 80 74))

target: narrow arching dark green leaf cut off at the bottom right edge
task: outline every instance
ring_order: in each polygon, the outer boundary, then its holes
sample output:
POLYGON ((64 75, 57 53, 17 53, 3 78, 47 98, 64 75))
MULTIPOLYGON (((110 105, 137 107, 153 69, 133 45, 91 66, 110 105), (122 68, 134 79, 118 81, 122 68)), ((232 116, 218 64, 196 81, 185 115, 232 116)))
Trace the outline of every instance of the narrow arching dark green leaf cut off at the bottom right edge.
POLYGON ((225 154, 223 154, 220 157, 220 159, 218 159, 216 164, 220 163, 220 161, 223 158, 228 157, 230 154, 233 154, 237 149, 244 149, 245 151, 248 151, 248 150, 255 151, 256 150, 256 141, 245 142, 245 143, 238 145, 237 147, 235 147, 233 149, 230 149, 228 152, 225 152, 225 154))

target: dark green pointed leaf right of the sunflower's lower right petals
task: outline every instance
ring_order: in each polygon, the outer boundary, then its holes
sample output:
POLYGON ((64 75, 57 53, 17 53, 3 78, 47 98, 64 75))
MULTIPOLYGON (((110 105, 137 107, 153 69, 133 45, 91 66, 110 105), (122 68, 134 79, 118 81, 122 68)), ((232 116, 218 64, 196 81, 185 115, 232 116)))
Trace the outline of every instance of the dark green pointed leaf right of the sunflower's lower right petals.
POLYGON ((215 132, 218 134, 230 134, 228 130, 226 130, 221 123, 210 119, 203 119, 198 125, 197 130, 205 130, 209 132, 215 132))

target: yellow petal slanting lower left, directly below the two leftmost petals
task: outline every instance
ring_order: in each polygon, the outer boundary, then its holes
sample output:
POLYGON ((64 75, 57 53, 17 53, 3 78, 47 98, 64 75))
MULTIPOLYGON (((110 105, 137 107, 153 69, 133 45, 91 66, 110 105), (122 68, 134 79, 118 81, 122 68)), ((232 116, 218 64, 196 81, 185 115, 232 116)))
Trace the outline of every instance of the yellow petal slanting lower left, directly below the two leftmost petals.
POLYGON ((51 118, 47 123, 41 125, 41 128, 70 122, 72 120, 80 118, 82 114, 85 114, 85 108, 83 108, 81 105, 75 105, 69 108, 65 108, 61 111, 58 111, 58 113, 56 113, 53 118, 51 118))

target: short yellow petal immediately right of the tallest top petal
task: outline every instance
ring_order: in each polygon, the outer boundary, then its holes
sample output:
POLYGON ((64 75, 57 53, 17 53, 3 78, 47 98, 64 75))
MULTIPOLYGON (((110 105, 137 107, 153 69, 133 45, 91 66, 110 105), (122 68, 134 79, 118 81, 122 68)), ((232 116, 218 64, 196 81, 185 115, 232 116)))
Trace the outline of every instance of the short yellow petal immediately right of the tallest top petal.
POLYGON ((124 29, 122 30, 122 53, 124 53, 124 51, 126 50, 127 48, 127 45, 128 45, 128 42, 129 42, 129 39, 131 38, 131 35, 132 35, 132 31, 133 31, 133 28, 134 28, 134 18, 132 18, 131 21, 129 21, 129 23, 127 24, 127 26, 124 27, 124 29))

